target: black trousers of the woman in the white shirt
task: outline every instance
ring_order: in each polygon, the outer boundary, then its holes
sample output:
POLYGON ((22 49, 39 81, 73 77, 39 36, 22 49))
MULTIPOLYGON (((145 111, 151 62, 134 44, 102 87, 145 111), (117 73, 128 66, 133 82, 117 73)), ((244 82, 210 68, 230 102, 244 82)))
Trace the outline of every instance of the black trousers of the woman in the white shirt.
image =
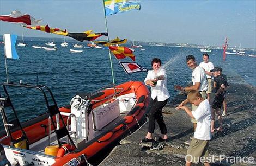
POLYGON ((149 108, 151 107, 148 117, 149 117, 149 130, 148 132, 154 133, 156 121, 159 125, 161 133, 165 135, 167 133, 166 124, 163 121, 162 108, 166 106, 168 99, 164 101, 157 101, 157 97, 153 100, 151 98, 149 108))

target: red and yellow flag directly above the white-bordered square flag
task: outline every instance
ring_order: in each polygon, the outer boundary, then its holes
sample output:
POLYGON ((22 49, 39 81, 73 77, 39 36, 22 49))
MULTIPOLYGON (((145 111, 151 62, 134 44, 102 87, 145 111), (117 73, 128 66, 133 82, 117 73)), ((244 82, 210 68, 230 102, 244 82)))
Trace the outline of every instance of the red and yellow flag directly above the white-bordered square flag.
POLYGON ((108 46, 111 52, 114 54, 115 58, 124 59, 126 57, 130 57, 133 61, 135 61, 135 55, 132 54, 132 50, 128 47, 123 46, 108 46))

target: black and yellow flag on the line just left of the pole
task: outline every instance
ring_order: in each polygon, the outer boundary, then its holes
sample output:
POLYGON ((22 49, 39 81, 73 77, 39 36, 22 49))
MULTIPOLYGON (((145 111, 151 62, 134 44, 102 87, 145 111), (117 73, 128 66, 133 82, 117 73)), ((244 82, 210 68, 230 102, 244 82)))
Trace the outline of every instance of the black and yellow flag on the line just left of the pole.
POLYGON ((93 41, 102 35, 108 36, 108 33, 92 33, 92 32, 93 32, 92 30, 84 31, 83 33, 69 33, 69 32, 56 31, 54 32, 54 34, 69 36, 81 42, 84 40, 93 41))

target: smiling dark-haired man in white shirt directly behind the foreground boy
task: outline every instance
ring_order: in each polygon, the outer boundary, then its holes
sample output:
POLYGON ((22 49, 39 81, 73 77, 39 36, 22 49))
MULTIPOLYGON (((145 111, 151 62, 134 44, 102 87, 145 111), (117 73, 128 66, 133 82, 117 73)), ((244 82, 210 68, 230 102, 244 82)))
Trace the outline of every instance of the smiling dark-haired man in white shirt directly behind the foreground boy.
MULTIPOLYGON (((192 69, 192 76, 191 76, 191 80, 193 82, 192 86, 187 86, 187 87, 182 87, 180 85, 175 85, 174 89, 175 90, 180 90, 180 91, 192 91, 192 90, 196 90, 199 91, 203 97, 203 99, 207 98, 207 94, 206 91, 208 89, 208 81, 206 78, 206 74, 204 72, 204 69, 201 68, 200 66, 197 65, 196 63, 196 58, 194 58, 193 55, 187 55, 186 57, 186 62, 187 62, 187 66, 188 68, 192 69)), ((185 104, 188 103, 188 100, 184 100, 180 103, 180 106, 183 106, 185 104)), ((192 104, 192 111, 196 110, 197 106, 192 104)), ((197 120, 192 118, 191 122, 193 123, 193 128, 194 131, 196 130, 197 127, 197 120)), ((192 139, 192 137, 191 137, 192 139)), ((185 141, 185 144, 190 144, 188 141, 185 141)))

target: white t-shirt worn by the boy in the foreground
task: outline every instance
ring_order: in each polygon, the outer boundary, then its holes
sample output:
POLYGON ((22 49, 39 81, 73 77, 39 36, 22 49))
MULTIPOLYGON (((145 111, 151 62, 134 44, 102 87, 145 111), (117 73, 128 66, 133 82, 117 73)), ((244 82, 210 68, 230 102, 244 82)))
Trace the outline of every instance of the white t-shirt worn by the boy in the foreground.
POLYGON ((200 140, 211 139, 211 107, 208 99, 202 101, 196 110, 191 112, 197 120, 197 128, 194 138, 200 140))

